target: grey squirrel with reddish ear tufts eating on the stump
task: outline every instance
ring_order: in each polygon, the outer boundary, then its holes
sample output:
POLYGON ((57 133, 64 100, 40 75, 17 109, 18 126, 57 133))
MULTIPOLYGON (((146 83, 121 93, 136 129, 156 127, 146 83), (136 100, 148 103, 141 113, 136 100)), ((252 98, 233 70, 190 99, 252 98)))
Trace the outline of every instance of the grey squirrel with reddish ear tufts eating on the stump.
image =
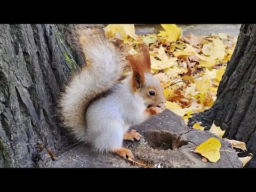
POLYGON ((141 134, 128 132, 129 128, 162 113, 163 89, 150 73, 145 44, 139 45, 138 54, 127 55, 104 31, 95 31, 77 33, 86 65, 61 94, 61 119, 74 139, 94 151, 134 158, 131 150, 122 147, 123 140, 139 140, 141 134), (132 73, 120 82, 127 65, 132 73))

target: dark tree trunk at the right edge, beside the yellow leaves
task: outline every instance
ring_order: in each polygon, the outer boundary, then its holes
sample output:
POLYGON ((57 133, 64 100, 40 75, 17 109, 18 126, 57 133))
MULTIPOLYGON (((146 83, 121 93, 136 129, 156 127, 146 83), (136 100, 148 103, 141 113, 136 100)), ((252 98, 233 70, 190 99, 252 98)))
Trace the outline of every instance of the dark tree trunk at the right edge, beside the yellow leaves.
POLYGON ((194 114, 191 122, 202 122, 209 130, 213 121, 223 137, 246 143, 253 159, 247 167, 256 167, 256 25, 241 26, 235 51, 218 89, 217 100, 209 110, 194 114))

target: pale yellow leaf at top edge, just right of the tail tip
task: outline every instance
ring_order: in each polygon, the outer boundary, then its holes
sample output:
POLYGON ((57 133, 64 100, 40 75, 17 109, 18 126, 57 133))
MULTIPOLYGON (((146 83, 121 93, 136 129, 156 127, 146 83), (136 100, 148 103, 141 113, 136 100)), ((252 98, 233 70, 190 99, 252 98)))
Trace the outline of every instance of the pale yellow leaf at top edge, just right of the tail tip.
POLYGON ((124 43, 127 43, 128 36, 133 39, 137 39, 138 36, 135 34, 134 24, 109 24, 105 27, 106 31, 110 31, 113 34, 119 33, 124 38, 124 43))

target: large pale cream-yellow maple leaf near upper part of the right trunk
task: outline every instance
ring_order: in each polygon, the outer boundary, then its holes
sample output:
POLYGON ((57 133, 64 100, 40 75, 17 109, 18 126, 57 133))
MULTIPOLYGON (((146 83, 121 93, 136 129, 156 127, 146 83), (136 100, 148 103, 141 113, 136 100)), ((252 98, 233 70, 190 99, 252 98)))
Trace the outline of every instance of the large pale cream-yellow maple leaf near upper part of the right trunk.
POLYGON ((223 45, 222 41, 219 38, 212 38, 211 43, 204 44, 202 47, 202 52, 205 55, 209 55, 209 58, 212 60, 222 60, 226 54, 225 46, 223 45))

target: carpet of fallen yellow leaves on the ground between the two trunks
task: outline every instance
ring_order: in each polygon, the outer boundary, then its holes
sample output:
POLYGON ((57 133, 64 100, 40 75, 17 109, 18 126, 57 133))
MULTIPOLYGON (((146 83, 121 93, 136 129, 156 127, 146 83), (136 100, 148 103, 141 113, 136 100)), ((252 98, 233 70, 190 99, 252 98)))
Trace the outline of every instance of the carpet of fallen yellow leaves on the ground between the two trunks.
MULTIPOLYGON (((209 109, 217 98, 217 90, 227 62, 234 52, 237 37, 225 33, 209 36, 182 36, 175 24, 162 24, 159 34, 137 35, 133 24, 110 24, 105 29, 131 47, 149 46, 151 73, 161 83, 166 108, 183 117, 209 109)), ((203 129, 203 128, 201 128, 203 129)))

